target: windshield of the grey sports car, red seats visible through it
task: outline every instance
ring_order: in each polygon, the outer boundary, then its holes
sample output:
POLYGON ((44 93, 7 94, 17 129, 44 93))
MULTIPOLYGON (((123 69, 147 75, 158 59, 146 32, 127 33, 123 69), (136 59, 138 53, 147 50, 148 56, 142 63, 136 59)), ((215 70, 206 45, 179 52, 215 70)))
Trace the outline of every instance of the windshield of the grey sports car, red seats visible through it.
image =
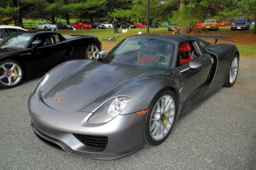
POLYGON ((118 44, 104 57, 105 63, 146 67, 168 67, 175 44, 155 38, 132 37, 118 44))

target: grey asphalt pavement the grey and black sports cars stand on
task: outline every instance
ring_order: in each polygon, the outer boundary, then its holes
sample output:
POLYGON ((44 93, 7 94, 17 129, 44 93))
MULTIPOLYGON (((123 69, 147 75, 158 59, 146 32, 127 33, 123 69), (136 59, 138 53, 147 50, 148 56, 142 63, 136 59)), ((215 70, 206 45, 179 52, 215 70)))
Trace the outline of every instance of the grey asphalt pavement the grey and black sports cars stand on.
POLYGON ((234 87, 182 115, 162 145, 117 160, 68 155, 35 136, 27 103, 40 78, 0 89, 0 169, 256 169, 255 66, 241 57, 234 87))

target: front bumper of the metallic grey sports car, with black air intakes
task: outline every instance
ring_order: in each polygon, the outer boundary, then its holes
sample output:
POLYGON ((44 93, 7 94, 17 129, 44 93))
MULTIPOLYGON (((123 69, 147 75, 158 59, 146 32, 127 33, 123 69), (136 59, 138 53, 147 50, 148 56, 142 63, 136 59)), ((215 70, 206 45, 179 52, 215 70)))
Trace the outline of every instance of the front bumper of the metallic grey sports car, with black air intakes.
POLYGON ((118 115, 104 124, 90 124, 92 113, 64 113, 44 104, 38 95, 29 97, 31 127, 46 143, 71 155, 92 159, 118 159, 144 147, 145 115, 118 115), (93 138, 90 145, 81 138, 93 138), (104 146, 98 146, 104 138, 104 146), (97 141, 95 141, 95 140, 97 141), (106 142, 107 141, 107 142, 106 142))

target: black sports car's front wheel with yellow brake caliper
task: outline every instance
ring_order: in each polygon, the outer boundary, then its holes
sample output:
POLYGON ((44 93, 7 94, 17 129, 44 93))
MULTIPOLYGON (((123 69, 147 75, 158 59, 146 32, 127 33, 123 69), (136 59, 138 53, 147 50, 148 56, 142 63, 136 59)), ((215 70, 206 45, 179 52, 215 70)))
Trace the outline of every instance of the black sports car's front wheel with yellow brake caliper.
POLYGON ((3 60, 0 62, 0 87, 12 88, 22 81, 23 69, 15 60, 3 60))

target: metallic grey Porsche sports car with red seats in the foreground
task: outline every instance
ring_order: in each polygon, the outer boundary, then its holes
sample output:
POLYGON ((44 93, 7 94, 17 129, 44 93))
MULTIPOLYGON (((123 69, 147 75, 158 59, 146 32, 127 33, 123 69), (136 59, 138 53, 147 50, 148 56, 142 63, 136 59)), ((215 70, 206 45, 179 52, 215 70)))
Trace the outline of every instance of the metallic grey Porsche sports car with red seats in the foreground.
POLYGON ((163 143, 181 113, 234 85, 238 67, 232 44, 185 35, 132 36, 103 58, 68 61, 45 74, 29 97, 31 127, 72 155, 124 157, 144 143, 163 143))

